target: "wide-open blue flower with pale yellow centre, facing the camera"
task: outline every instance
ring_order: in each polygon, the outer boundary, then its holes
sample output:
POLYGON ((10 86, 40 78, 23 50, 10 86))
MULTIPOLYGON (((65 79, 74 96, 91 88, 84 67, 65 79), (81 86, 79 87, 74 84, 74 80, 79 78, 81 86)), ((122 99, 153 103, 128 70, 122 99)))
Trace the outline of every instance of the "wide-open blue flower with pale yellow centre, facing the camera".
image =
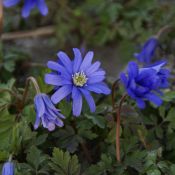
POLYGON ((65 97, 73 100, 73 114, 79 116, 82 110, 82 97, 86 99, 91 112, 95 111, 95 102, 90 92, 110 94, 110 89, 103 82, 105 71, 100 68, 101 63, 92 64, 94 53, 89 51, 84 59, 79 49, 74 48, 74 60, 71 61, 64 52, 58 52, 59 61, 49 61, 48 68, 54 73, 45 75, 45 82, 55 86, 55 93, 51 96, 53 103, 59 103, 65 97))

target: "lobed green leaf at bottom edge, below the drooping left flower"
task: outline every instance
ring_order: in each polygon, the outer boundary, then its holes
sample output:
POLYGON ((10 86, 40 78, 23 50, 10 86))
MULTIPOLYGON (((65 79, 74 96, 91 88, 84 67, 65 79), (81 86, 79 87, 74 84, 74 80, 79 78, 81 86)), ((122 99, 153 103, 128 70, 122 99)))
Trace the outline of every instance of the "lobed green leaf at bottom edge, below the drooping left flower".
POLYGON ((59 148, 54 148, 50 166, 59 175, 78 175, 80 164, 76 155, 71 156, 68 152, 63 152, 59 148))

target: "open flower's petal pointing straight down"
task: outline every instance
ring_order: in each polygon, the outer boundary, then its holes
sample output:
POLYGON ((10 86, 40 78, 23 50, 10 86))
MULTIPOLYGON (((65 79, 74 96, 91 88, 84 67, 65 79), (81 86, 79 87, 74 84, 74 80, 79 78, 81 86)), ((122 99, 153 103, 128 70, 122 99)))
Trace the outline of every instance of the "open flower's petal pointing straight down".
POLYGON ((80 91, 74 86, 72 90, 73 99, 73 114, 78 117, 82 109, 82 95, 80 91))

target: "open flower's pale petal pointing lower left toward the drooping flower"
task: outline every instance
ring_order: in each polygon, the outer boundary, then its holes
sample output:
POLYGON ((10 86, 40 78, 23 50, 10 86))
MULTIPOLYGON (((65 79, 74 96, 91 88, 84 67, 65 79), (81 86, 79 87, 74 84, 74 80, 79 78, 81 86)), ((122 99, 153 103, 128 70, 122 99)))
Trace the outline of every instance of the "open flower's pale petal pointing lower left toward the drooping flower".
POLYGON ((51 100, 54 104, 59 103, 63 98, 68 96, 72 91, 71 85, 64 85, 63 87, 59 88, 52 96, 51 100))

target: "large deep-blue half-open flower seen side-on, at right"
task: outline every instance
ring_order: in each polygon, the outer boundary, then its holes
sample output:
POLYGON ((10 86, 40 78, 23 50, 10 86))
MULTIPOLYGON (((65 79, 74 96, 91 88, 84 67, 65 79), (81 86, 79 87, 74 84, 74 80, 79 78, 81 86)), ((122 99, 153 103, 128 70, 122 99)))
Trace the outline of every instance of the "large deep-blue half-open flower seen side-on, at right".
POLYGON ((145 108, 145 100, 157 106, 162 104, 160 89, 168 87, 170 74, 168 69, 162 68, 165 64, 166 61, 161 61, 149 67, 139 68, 135 62, 129 62, 128 76, 120 74, 128 95, 136 100, 139 108, 145 108))

